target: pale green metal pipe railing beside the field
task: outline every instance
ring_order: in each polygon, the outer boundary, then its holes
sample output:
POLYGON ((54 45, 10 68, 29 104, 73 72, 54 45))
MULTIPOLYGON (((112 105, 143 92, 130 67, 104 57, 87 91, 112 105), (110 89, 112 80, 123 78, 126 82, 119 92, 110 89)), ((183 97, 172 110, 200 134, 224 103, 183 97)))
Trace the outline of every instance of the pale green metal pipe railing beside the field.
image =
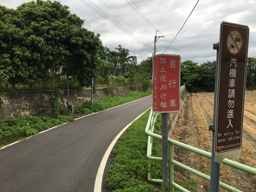
MULTIPOLYGON (((162 140, 161 135, 158 135, 158 134, 154 133, 154 124, 155 124, 157 116, 158 116, 158 113, 154 113, 151 109, 151 112, 150 112, 149 118, 148 118, 148 122, 146 124, 146 129, 145 129, 145 133, 148 135, 147 156, 148 156, 148 159, 162 161, 161 157, 151 156, 151 151, 152 151, 152 148, 153 148, 153 146, 152 146, 153 145, 153 138, 162 140)), ((173 145, 181 147, 181 148, 186 149, 188 151, 191 151, 193 153, 202 155, 202 156, 204 156, 206 158, 209 158, 209 159, 211 159, 211 157, 212 157, 211 153, 209 153, 207 151, 204 151, 204 150, 201 150, 201 149, 198 149, 196 147, 178 142, 178 141, 170 139, 170 138, 168 138, 168 144, 169 144, 169 186, 171 187, 172 191, 174 191, 174 187, 175 187, 175 188, 177 188, 178 190, 180 190, 182 192, 189 192, 188 190, 186 190, 185 188, 181 187, 180 185, 178 185, 177 183, 174 182, 174 165, 176 165, 178 167, 181 167, 182 169, 185 169, 185 170, 187 170, 187 171, 189 171, 189 172, 191 172, 191 173, 193 173, 193 174, 195 174, 199 177, 202 177, 207 181, 210 181, 210 177, 208 175, 205 175, 205 174, 203 174, 203 173, 201 173, 197 170, 192 169, 191 167, 188 167, 186 165, 181 164, 178 161, 175 161, 173 159, 173 145)), ((249 174, 256 175, 256 169, 253 168, 253 167, 250 167, 250 166, 247 166, 247 165, 244 165, 244 164, 241 164, 241 163, 229 160, 229 159, 224 159, 222 161, 222 163, 225 164, 225 165, 228 165, 230 167, 233 167, 235 169, 247 172, 249 174)), ((149 167, 150 166, 151 165, 149 164, 149 167)), ((148 174, 148 180, 151 181, 151 182, 162 183, 161 179, 151 178, 150 172, 148 174)), ((219 182, 219 186, 228 190, 228 191, 231 191, 231 192, 241 192, 240 190, 238 190, 234 187, 231 187, 231 186, 229 186, 229 185, 227 185, 223 182, 219 182)))

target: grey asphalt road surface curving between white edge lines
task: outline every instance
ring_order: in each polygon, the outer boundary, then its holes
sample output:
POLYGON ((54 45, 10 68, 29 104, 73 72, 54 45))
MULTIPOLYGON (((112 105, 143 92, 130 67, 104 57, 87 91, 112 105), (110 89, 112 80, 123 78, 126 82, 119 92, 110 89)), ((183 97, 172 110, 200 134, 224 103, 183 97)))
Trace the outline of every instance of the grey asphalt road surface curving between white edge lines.
POLYGON ((93 191, 108 146, 150 105, 145 97, 1 149, 0 191, 93 191))

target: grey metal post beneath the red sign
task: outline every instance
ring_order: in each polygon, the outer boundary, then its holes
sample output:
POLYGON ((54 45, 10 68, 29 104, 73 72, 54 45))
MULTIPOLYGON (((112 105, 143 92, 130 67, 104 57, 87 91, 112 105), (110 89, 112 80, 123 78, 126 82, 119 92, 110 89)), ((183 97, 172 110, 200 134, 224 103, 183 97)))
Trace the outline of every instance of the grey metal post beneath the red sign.
POLYGON ((168 186, 168 113, 162 113, 162 180, 163 186, 168 186))

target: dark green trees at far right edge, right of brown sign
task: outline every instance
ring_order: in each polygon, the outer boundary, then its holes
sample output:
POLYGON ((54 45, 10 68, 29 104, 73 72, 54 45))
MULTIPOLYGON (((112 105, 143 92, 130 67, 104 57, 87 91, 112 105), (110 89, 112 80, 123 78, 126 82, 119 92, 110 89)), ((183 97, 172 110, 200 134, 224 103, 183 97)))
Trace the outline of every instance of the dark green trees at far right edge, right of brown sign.
POLYGON ((256 87, 256 58, 249 57, 247 60, 246 87, 256 87))

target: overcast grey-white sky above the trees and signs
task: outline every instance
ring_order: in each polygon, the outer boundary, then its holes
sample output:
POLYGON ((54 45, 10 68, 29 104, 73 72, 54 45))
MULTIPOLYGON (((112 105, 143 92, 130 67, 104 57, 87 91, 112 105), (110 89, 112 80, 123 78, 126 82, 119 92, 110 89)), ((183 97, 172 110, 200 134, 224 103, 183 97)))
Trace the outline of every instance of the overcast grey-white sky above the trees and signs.
MULTIPOLYGON (((0 0, 0 4, 16 9, 31 0, 0 0)), ((52 0, 53 1, 53 0, 52 0)), ((71 14, 85 20, 84 27, 101 34, 103 46, 114 50, 120 44, 137 56, 138 63, 151 57, 154 37, 156 54, 170 45, 198 0, 59 0, 69 6, 71 14), (99 15, 86 4, 105 12, 127 30, 130 36, 99 15), (144 17, 144 18, 143 18, 144 17), (156 33, 156 30, 160 32, 156 33), (133 37, 131 37, 133 36, 133 37), (141 43, 142 42, 142 43, 141 43), (146 44, 147 46, 145 46, 146 44)), ((181 55, 181 61, 199 64, 216 60, 213 43, 219 42, 222 21, 250 28, 248 57, 256 57, 255 0, 199 0, 186 24, 164 54, 181 55)), ((110 19, 111 19, 110 18, 110 19)))

